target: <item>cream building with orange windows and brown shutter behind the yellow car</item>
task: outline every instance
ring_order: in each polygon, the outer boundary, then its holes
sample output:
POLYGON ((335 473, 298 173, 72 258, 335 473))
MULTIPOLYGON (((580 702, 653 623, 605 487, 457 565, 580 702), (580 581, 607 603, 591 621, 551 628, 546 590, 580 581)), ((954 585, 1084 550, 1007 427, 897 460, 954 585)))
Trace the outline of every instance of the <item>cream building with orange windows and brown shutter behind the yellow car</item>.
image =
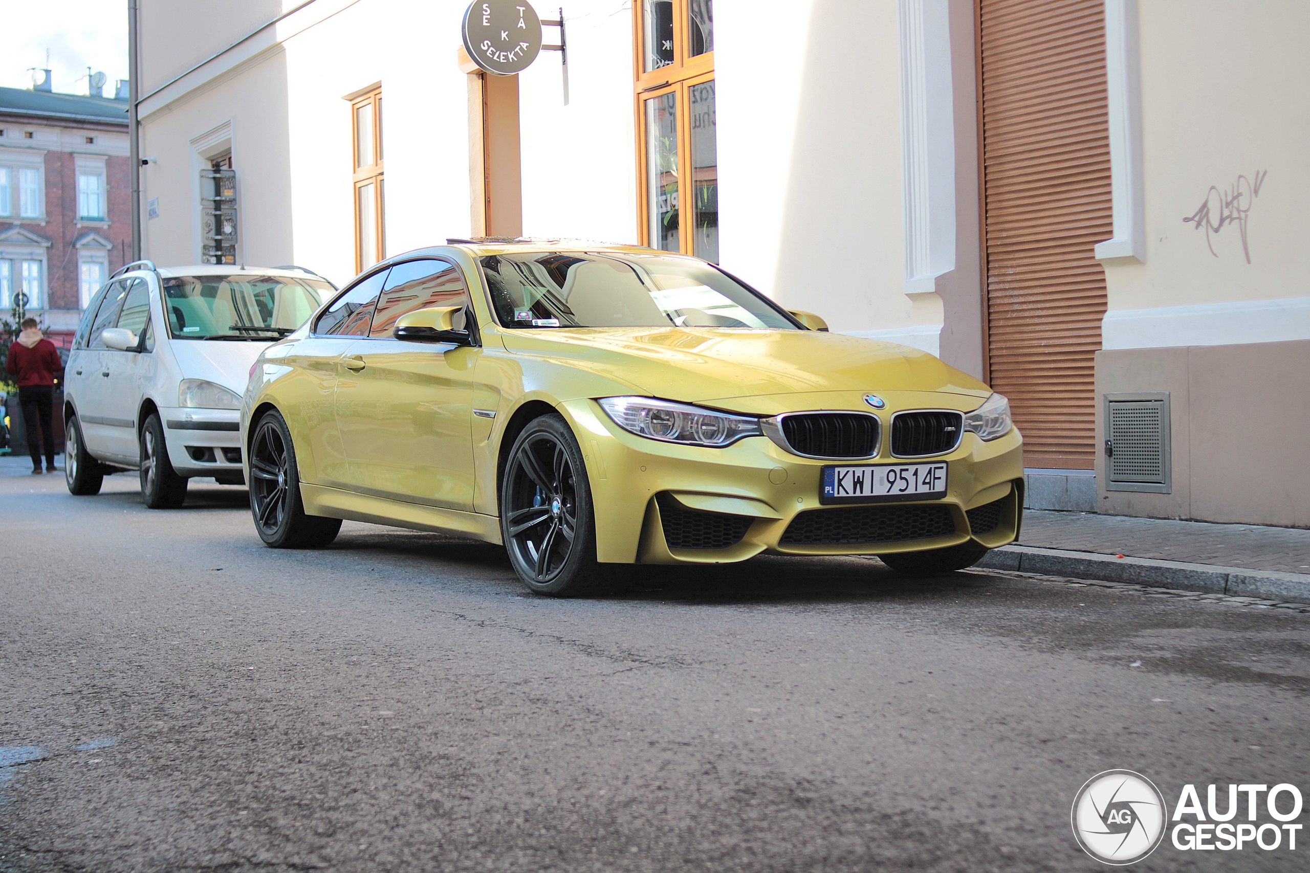
POLYGON ((144 257, 694 253, 1010 397, 1035 505, 1310 525, 1305 4, 576 0, 508 77, 462 0, 140 5, 144 257))

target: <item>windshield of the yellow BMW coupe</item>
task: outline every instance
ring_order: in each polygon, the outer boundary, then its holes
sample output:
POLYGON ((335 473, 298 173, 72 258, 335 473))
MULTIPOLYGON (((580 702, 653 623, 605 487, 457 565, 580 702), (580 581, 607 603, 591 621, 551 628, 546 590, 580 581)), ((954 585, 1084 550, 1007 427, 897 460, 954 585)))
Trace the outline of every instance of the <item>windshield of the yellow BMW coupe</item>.
POLYGON ((694 258, 536 251, 481 263, 506 327, 796 330, 764 297, 694 258))

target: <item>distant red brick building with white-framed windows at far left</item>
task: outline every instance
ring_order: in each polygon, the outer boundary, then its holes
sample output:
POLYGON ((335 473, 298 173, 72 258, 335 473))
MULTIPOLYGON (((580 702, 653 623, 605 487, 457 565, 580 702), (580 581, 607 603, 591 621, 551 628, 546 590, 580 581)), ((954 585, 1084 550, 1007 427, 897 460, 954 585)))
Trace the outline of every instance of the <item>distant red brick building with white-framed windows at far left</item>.
MULTIPOLYGON (((0 88, 0 313, 25 310, 67 348, 81 310, 130 260, 127 86, 118 98, 0 88)), ((98 80, 103 88, 103 75, 98 80)))

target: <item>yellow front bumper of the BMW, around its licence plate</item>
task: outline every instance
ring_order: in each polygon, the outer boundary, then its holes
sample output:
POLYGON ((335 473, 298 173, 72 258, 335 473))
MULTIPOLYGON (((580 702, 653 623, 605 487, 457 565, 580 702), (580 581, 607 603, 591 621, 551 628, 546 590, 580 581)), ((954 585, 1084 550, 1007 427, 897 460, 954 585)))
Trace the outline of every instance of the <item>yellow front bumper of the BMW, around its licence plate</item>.
MULTIPOLYGON (((947 463, 947 493, 907 503, 819 503, 832 461, 794 455, 766 437, 726 449, 675 445, 622 431, 593 401, 561 412, 582 445, 604 563, 719 564, 761 552, 879 555, 975 541, 1013 542, 1023 512, 1023 440, 965 433, 947 463), (820 514, 844 513, 844 514, 820 514), (688 547, 694 543, 696 547, 688 547), (724 544, 727 543, 727 544, 724 544)), ((907 463, 882 455, 852 463, 907 463)))

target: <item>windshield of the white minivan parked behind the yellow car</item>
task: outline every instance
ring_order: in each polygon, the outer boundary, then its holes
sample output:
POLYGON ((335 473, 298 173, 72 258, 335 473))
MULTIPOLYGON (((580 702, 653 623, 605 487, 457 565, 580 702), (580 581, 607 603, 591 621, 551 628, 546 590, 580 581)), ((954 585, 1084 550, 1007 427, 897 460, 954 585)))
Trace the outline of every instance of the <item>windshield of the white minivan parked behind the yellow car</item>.
POLYGON ((286 336, 305 323, 333 287, 290 276, 178 276, 164 280, 164 310, 174 339, 286 336))

